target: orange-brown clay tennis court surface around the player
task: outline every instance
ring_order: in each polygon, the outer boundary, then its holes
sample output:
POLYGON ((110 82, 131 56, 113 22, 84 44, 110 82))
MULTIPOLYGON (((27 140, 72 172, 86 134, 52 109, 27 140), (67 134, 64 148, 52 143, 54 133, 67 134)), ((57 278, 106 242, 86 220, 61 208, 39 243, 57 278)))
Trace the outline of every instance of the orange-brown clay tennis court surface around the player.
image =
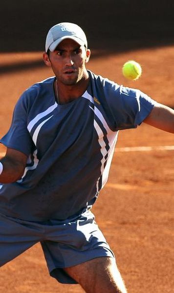
MULTIPOLYGON (((52 4, 55 2, 51 1, 52 4)), ((67 2, 65 1, 66 4, 67 2)), ((110 4, 115 2, 110 1, 110 4)), ((126 5, 129 1, 124 2, 126 5)), ((46 1, 43 3, 46 5, 46 1)), ((113 28, 113 19, 110 18, 111 12, 109 12, 112 11, 112 6, 110 10, 105 11, 104 3, 105 1, 101 1, 97 7, 103 9, 102 16, 108 17, 105 23, 113 28)), ((62 13, 65 13, 65 8, 65 4, 62 5, 62 13)), ((138 9, 140 8, 139 6, 138 9)), ((92 34, 87 12, 84 22, 82 17, 77 17, 79 21, 76 22, 82 25, 84 30, 87 27, 86 31, 90 37, 89 47, 92 50, 92 57, 87 65, 88 69, 118 84, 139 88, 154 100, 174 108, 174 37, 172 36, 174 23, 169 21, 171 12, 170 7, 167 8, 165 11, 168 11, 169 15, 163 18, 163 22, 160 22, 158 13, 156 26, 146 26, 144 13, 141 29, 137 29, 137 32, 131 36, 130 26, 134 27, 135 23, 128 21, 127 26, 122 27, 122 34, 120 26, 119 37, 117 35, 115 39, 114 30, 110 35, 106 34, 106 27, 105 31, 100 31, 97 21, 93 28, 96 27, 98 33, 92 34), (159 38, 161 31, 163 34, 159 38), (125 38, 121 39, 125 32, 127 38, 125 34, 125 38), (97 36, 100 38, 96 39, 97 36), (155 40, 153 36, 156 37, 155 40), (122 76, 122 65, 128 60, 135 60, 142 65, 143 74, 138 81, 128 81, 122 76)), ((17 7, 12 7, 8 10, 4 6, 3 9, 4 13, 11 13, 10 15, 13 15, 14 9, 22 16, 22 8, 18 10, 17 7)), ((44 34, 50 26, 62 21, 63 17, 59 16, 55 21, 54 13, 51 19, 50 9, 49 6, 49 19, 46 24, 43 23, 44 27, 38 24, 33 35, 27 20, 25 22, 24 18, 22 19, 26 31, 30 32, 31 42, 28 45, 25 33, 22 37, 21 26, 19 35, 17 33, 18 14, 15 18, 14 32, 11 28, 11 42, 9 25, 1 26, 8 34, 2 42, 0 52, 0 136, 8 130, 14 105, 23 90, 52 75, 42 62, 44 34), (39 32, 41 27, 45 31, 41 30, 40 39, 37 39, 34 45, 36 32, 39 32), (14 41, 15 36, 18 37, 19 42, 14 41)), ((120 11, 123 12, 124 7, 120 6, 120 11)), ((149 8, 149 11, 152 10, 149 8)), ((155 15, 155 8, 153 13, 155 15)), ((43 16, 45 16, 44 9, 40 11, 40 17, 43 16)), ((71 16, 70 8, 68 8, 68 16, 65 21, 75 22, 76 18, 71 16)), ((35 15, 33 20, 34 17, 35 15)), ((118 25, 118 17, 117 11, 115 26, 118 25)), ((150 18, 150 21, 152 19, 150 18)), ((36 25, 35 22, 32 23, 33 26, 36 25)), ((0 146, 1 155, 4 151, 5 148, 0 146)), ((116 255, 128 292, 174 292, 174 134, 145 124, 137 129, 120 131, 109 181, 92 210, 116 255)), ((40 244, 0 268, 0 291, 2 293, 84 292, 79 285, 62 285, 49 276, 40 244)))

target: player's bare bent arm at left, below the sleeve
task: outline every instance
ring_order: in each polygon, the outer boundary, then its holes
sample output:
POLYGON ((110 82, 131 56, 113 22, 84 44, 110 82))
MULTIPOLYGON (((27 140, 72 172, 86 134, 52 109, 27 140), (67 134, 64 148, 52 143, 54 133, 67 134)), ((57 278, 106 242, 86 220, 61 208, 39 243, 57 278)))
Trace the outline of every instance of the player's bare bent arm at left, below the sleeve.
POLYGON ((3 165, 0 183, 12 183, 21 178, 26 166, 27 156, 13 148, 7 148, 6 154, 0 159, 3 165))

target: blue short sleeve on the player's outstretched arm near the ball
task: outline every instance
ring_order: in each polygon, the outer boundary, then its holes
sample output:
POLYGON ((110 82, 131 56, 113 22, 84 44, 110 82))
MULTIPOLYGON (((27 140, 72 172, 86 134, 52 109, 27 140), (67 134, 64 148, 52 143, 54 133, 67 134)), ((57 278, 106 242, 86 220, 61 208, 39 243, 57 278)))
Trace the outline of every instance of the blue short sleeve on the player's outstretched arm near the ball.
POLYGON ((110 84, 105 93, 115 129, 136 128, 150 114, 155 101, 138 89, 110 84))

